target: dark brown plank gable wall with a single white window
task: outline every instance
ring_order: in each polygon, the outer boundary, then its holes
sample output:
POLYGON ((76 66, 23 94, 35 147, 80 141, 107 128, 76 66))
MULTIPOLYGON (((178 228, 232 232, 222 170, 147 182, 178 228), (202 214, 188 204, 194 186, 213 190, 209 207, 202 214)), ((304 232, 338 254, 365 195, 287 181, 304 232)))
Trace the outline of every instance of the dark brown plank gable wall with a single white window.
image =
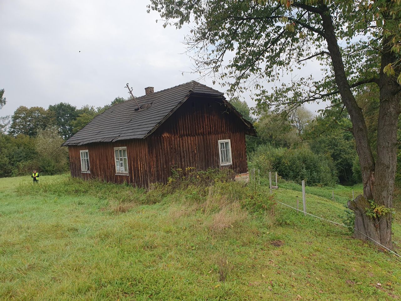
POLYGON ((166 183, 172 168, 220 168, 219 140, 231 140, 233 164, 246 173, 244 124, 215 98, 190 98, 147 138, 152 181, 166 183))

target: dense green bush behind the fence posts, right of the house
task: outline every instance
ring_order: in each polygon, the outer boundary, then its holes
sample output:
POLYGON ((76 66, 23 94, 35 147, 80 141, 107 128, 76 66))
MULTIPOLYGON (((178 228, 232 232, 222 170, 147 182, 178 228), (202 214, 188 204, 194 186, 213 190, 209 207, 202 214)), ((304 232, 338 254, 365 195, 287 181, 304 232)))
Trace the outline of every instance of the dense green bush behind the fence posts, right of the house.
POLYGON ((249 156, 249 167, 260 169, 261 175, 277 171, 286 180, 305 180, 309 185, 334 185, 337 180, 332 159, 315 154, 308 148, 288 149, 262 145, 249 156))

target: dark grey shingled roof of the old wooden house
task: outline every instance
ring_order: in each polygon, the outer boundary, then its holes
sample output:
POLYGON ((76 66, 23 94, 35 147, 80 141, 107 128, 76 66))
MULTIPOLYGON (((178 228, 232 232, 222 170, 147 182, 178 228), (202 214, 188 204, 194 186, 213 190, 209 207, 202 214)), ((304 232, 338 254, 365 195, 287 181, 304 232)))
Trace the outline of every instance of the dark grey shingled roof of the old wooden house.
POLYGON ((223 93, 196 81, 190 81, 136 98, 139 106, 144 108, 141 110, 137 109, 134 100, 127 100, 112 106, 93 118, 63 145, 146 138, 175 112, 191 94, 221 98, 251 129, 251 132, 254 132, 252 124, 243 119, 241 114, 225 100, 223 93))

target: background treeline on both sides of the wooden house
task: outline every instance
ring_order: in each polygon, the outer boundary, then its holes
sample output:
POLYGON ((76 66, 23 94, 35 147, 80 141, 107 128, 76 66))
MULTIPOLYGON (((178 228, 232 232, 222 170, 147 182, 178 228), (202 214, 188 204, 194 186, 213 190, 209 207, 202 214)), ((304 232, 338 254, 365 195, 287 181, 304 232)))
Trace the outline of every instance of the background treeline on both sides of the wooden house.
MULTIPOLYGON (((379 114, 377 93, 370 89, 358 97, 373 149, 379 114)), ((67 148, 60 145, 97 114, 124 101, 117 97, 104 107, 86 105, 79 109, 63 102, 47 109, 20 106, 12 116, 1 117, 1 176, 24 175, 32 169, 43 174, 67 171, 67 148)), ((246 137, 250 168, 260 169, 262 174, 277 171, 284 179, 306 180, 309 185, 361 181, 352 124, 344 108, 332 106, 317 116, 302 107, 280 113, 265 110, 255 117, 245 101, 233 99, 231 103, 257 130, 257 137, 246 137)), ((4 90, 0 90, 0 108, 5 104, 4 90)), ((401 137, 401 121, 398 135, 401 137)), ((398 150, 400 165, 401 148, 398 150)), ((401 183, 400 168, 396 181, 401 183)))

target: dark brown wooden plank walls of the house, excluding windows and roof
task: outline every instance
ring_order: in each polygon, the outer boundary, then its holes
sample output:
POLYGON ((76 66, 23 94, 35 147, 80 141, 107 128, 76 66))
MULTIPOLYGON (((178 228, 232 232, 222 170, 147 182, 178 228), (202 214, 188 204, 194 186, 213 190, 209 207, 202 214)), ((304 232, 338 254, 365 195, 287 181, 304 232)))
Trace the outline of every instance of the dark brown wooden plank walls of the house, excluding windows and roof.
POLYGON ((247 172, 245 124, 218 98, 188 99, 145 139, 69 146, 73 177, 149 187, 166 183, 172 168, 229 168, 247 172), (231 140, 232 165, 221 167, 219 140, 231 140), (129 175, 116 175, 114 147, 126 146, 129 175), (89 151, 91 173, 81 173, 80 150, 89 151))

